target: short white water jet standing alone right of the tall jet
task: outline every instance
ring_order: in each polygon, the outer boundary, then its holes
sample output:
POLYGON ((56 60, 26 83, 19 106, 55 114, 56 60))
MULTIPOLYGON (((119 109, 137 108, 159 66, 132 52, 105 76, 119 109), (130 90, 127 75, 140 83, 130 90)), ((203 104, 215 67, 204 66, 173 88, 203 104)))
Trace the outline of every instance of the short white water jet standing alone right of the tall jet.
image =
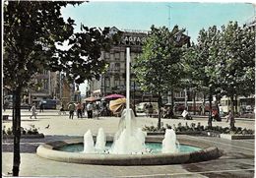
POLYGON ((166 129, 164 139, 162 140, 162 153, 174 153, 178 151, 178 144, 176 145, 176 134, 172 129, 166 129))

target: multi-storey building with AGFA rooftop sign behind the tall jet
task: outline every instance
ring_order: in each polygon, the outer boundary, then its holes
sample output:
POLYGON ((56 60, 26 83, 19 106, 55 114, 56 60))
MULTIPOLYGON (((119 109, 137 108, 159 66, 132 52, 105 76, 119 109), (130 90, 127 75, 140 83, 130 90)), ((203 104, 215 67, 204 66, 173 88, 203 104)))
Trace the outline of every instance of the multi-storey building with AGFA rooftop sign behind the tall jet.
MULTIPOLYGON (((117 32, 115 27, 110 29, 110 34, 117 32)), ((126 74, 126 47, 130 47, 131 63, 142 52, 142 42, 146 39, 148 31, 122 30, 121 40, 117 45, 113 45, 109 52, 102 51, 101 58, 108 62, 107 71, 101 75, 100 80, 90 81, 89 95, 104 96, 110 93, 125 94, 125 74, 126 74)), ((177 39, 182 43, 189 43, 190 37, 182 32, 177 33, 177 39)), ((138 85, 133 81, 131 71, 131 96, 136 102, 157 101, 151 93, 143 93, 138 85)))

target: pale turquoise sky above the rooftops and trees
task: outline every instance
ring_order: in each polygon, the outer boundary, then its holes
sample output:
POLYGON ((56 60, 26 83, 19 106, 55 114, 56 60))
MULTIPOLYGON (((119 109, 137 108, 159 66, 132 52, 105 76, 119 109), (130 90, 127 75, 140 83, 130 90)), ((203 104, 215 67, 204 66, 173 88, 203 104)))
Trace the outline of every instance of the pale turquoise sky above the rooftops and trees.
MULTIPOLYGON (((62 9, 64 19, 71 17, 80 30, 81 23, 88 27, 116 27, 119 30, 150 30, 165 26, 186 29, 186 34, 196 42, 199 30, 217 26, 221 29, 229 21, 240 26, 255 16, 255 6, 248 3, 206 2, 89 2, 62 9)), ((86 86, 86 85, 85 85, 86 86)), ((82 93, 85 93, 82 85, 82 93)))

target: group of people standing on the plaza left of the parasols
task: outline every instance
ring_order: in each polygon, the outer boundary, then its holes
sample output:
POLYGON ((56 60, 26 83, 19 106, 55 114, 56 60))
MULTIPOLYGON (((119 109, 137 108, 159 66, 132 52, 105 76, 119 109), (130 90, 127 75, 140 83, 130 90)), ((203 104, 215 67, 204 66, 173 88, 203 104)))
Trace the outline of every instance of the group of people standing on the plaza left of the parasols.
MULTIPOLYGON (((64 110, 64 106, 62 105, 61 110, 64 110)), ((93 118, 94 117, 94 111, 96 117, 98 116, 98 109, 97 109, 97 104, 94 106, 92 102, 89 102, 87 104, 83 104, 81 102, 77 102, 75 104, 74 102, 70 102, 68 104, 68 110, 69 110, 69 119, 74 118, 74 113, 75 111, 77 112, 77 117, 78 118, 83 118, 83 115, 87 111, 88 118, 93 118)))

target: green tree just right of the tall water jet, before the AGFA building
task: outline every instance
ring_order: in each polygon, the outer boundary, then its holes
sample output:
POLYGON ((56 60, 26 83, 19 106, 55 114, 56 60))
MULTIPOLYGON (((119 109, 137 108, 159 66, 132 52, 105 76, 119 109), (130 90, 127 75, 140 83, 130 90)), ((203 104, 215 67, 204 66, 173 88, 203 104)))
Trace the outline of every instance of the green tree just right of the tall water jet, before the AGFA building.
POLYGON ((161 94, 166 93, 170 84, 178 83, 181 73, 181 48, 177 47, 174 35, 177 27, 172 31, 163 27, 151 28, 151 32, 143 44, 142 54, 135 60, 133 66, 141 89, 158 94, 159 122, 161 94))

